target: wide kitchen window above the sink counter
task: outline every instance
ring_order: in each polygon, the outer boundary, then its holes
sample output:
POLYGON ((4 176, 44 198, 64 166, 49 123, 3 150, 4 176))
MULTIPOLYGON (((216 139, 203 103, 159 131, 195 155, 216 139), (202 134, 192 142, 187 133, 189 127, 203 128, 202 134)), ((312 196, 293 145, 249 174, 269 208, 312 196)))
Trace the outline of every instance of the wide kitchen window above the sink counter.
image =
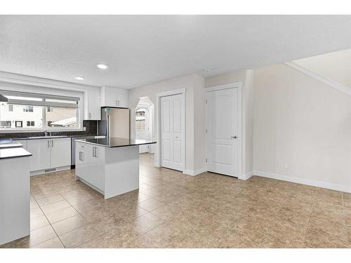
POLYGON ((0 130, 79 129, 80 97, 0 90, 0 130), (11 106, 11 107, 10 107, 11 106))

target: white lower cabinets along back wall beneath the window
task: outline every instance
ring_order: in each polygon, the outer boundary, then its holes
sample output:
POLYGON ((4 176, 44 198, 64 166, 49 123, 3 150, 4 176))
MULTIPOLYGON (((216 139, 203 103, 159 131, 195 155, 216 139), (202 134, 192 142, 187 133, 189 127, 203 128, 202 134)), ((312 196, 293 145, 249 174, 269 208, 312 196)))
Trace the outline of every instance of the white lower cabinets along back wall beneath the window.
POLYGON ((46 170, 71 165, 71 138, 27 140, 30 171, 46 170))

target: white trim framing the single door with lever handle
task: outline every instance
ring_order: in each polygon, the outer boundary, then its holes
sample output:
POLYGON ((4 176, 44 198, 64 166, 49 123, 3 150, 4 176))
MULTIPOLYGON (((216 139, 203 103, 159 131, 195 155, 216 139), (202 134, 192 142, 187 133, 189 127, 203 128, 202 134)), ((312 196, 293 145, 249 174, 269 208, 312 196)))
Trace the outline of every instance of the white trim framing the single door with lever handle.
MULTIPOLYGON (((242 105, 242 82, 234 82, 234 83, 229 83, 229 84, 225 84, 225 85, 220 85, 220 86, 212 86, 212 87, 208 87, 206 88, 206 100, 207 100, 207 95, 208 92, 211 91, 216 91, 216 90, 226 90, 226 89, 230 89, 230 88, 237 88, 238 89, 238 103, 237 103, 237 114, 238 114, 238 118, 237 118, 237 139, 238 139, 238 154, 237 154, 237 175, 233 175, 235 177, 238 177, 239 179, 241 179, 241 166, 242 166, 242 143, 243 143, 243 136, 242 136, 242 110, 241 110, 241 105, 242 105)), ((208 114, 207 114, 207 104, 206 104, 206 131, 208 129, 208 114)), ((208 153, 208 149, 207 149, 207 142, 208 142, 208 133, 206 133, 206 153, 208 153)), ((206 160, 208 160, 208 156, 206 154, 206 160)), ((207 168, 207 163, 206 163, 206 170, 208 170, 207 168)))

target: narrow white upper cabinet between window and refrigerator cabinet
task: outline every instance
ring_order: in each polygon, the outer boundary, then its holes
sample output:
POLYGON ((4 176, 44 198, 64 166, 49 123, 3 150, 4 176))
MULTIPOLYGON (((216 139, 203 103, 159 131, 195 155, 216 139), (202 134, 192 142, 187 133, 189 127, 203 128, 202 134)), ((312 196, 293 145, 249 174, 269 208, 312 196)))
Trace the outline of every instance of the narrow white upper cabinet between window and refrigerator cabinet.
POLYGON ((84 93, 84 120, 100 120, 100 90, 87 90, 84 93))

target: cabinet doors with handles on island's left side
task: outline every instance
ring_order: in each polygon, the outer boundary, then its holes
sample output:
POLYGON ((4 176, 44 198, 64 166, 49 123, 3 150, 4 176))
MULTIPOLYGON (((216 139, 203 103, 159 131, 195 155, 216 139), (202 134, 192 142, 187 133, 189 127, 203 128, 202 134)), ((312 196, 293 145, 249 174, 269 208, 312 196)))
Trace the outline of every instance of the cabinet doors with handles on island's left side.
POLYGON ((76 147, 76 175, 93 187, 103 190, 105 187, 104 147, 81 142, 77 142, 76 147))

